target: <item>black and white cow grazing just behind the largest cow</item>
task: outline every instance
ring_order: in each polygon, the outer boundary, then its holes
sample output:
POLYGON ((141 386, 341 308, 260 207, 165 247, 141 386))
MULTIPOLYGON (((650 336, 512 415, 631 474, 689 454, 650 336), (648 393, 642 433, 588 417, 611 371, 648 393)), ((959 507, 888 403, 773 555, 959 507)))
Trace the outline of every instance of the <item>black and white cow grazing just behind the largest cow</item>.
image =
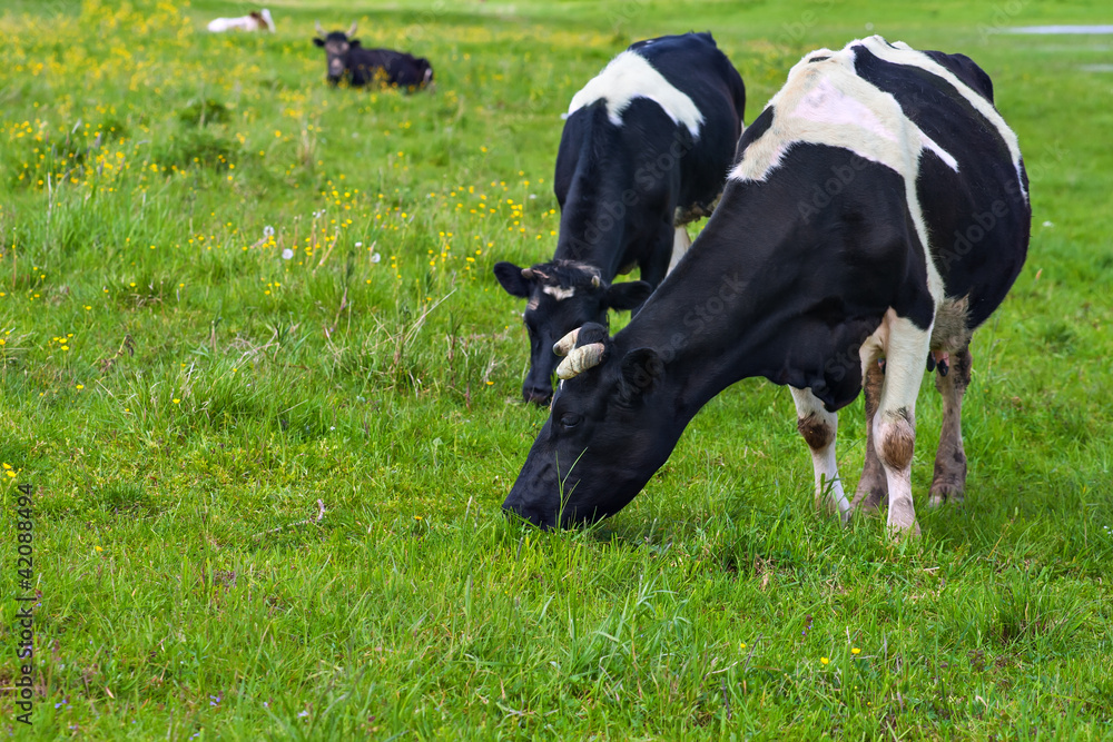
POLYGON ((551 348, 609 308, 634 309, 688 249, 684 224, 708 216, 742 128, 746 90, 710 33, 649 39, 621 52, 572 97, 556 154, 561 208, 552 260, 494 275, 528 299, 526 402, 546 404, 551 348), (641 280, 612 284, 640 268, 641 280))

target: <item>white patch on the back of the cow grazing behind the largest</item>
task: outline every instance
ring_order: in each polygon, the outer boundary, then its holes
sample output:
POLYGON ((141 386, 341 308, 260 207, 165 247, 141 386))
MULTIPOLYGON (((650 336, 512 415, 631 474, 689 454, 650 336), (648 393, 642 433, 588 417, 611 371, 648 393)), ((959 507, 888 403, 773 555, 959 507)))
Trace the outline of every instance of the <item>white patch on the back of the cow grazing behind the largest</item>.
POLYGON ((692 99, 678 90, 658 72, 649 60, 634 51, 623 51, 572 96, 568 118, 597 100, 607 101, 607 116, 614 126, 622 126, 622 112, 634 98, 648 98, 661 107, 677 125, 687 127, 699 138, 703 115, 692 99))

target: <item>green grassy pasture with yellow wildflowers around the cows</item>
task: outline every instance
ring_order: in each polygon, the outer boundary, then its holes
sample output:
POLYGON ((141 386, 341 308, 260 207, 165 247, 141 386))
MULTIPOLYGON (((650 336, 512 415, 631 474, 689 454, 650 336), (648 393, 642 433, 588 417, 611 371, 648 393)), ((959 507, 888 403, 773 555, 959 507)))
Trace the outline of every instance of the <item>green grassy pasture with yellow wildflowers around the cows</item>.
POLYGON ((252 9, 216 0, 0 9, 0 685, 20 484, 41 592, 33 726, 3 695, 0 733, 1113 738, 1113 37, 995 32, 1103 3, 268 6, 274 36, 207 34, 252 9), (313 21, 353 17, 436 91, 328 89, 313 21), (789 395, 747 382, 619 516, 508 523, 544 412, 491 266, 551 254, 572 93, 710 29, 749 121, 867 23, 981 63, 1032 178, 965 506, 926 509, 929 380, 898 546, 812 513, 789 395))

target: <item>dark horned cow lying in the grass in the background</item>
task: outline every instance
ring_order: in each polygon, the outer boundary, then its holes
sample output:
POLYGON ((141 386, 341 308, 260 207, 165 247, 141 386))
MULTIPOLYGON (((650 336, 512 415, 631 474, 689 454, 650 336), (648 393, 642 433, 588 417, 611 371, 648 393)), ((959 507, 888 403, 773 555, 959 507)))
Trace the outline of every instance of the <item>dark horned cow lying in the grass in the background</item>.
POLYGON ((424 88, 433 82, 433 66, 424 57, 392 49, 364 49, 355 36, 355 21, 347 33, 325 29, 317 23, 313 43, 323 47, 328 62, 328 81, 347 79, 354 88, 380 83, 400 88, 424 88))

